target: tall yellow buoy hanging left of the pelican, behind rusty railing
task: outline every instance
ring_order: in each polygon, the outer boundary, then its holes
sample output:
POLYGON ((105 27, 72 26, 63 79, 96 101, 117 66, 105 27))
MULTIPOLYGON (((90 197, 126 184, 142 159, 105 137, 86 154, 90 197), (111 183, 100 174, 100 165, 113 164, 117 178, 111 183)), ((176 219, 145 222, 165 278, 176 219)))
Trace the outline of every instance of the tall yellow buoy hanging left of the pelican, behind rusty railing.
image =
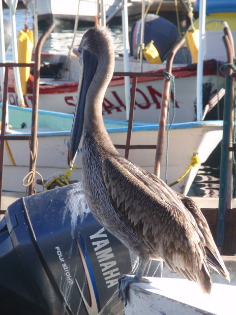
MULTIPOLYGON (((32 30, 21 30, 18 36, 18 62, 19 63, 30 63, 32 58, 33 50, 33 31, 32 30)), ((23 96, 27 94, 27 81, 29 79, 29 67, 20 67, 20 78, 23 96)))

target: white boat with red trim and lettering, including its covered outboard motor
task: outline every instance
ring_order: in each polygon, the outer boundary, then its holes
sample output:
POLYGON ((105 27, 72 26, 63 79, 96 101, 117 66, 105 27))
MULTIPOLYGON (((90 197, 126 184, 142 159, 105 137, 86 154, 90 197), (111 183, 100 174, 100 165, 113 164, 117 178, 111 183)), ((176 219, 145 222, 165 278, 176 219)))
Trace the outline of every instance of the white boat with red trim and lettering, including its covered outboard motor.
MULTIPOLYGON (((163 43, 163 47, 158 46, 162 63, 148 63, 143 61, 143 72, 163 73, 166 67, 165 58, 168 55, 170 48, 174 45, 177 39, 177 27, 159 16, 148 14, 147 23, 149 27, 146 30, 149 35, 150 29, 165 25, 166 32, 175 32, 170 41, 163 43), (153 23, 150 27, 150 23, 153 23)), ((133 26, 131 35, 132 38, 138 38, 140 33, 140 21, 133 26)), ((161 29, 161 27, 159 27, 161 29)), ((156 30, 156 28, 154 28, 156 30)), ((222 32, 223 34, 223 32, 222 32)), ((153 33, 153 36, 157 36, 153 33)), ((163 32, 158 35, 160 38, 168 38, 163 36, 163 32)), ((160 42, 158 38, 156 42, 160 42)), ((131 55, 135 55, 134 51, 138 45, 133 39, 130 39, 131 55)), ((146 40, 149 40, 147 37, 146 40)), ((147 42, 145 41, 145 44, 147 42)), ((223 45, 222 45, 223 47, 223 45)), ((223 48, 224 49, 224 48, 223 48)), ((77 48, 78 50, 78 48, 77 48)), ((186 49, 185 49, 186 51, 186 49)), ((76 52, 76 49, 74 49, 76 52)), ((210 56, 208 56, 210 58, 210 56)), ((175 95, 172 90, 172 101, 176 97, 175 102, 175 123, 196 121, 196 85, 197 85, 197 63, 177 63, 174 60, 173 75, 175 76, 175 95), (187 88, 186 88, 187 87, 187 88)), ((79 58, 76 56, 67 56, 59 54, 41 55, 42 67, 40 71, 41 82, 39 90, 39 108, 42 110, 58 111, 63 113, 73 114, 75 110, 77 89, 78 89, 78 63, 79 58)), ((218 61, 205 61, 203 68, 203 106, 205 106, 209 99, 217 94, 225 85, 225 78, 220 72, 221 63, 218 61)), ((115 74, 124 70, 124 58, 117 56, 115 60, 115 74)), ((135 59, 135 56, 129 58, 129 71, 140 72, 140 62, 135 59)), ((33 75, 33 72, 31 73, 33 75)), ((125 78, 122 76, 114 76, 109 84, 108 90, 105 94, 103 102, 103 116, 105 119, 126 120, 126 104, 127 104, 127 90, 125 90, 125 78)), ((10 75, 9 89, 8 89, 8 103, 11 105, 18 105, 19 101, 15 93, 15 83, 13 73, 10 75)), ((137 82, 136 89, 136 105, 135 105, 135 121, 156 123, 158 122, 160 112, 160 100, 162 96, 163 81, 161 78, 140 77, 137 82)), ((24 103, 27 107, 32 107, 32 87, 33 76, 29 78, 27 94, 24 97, 24 103)), ((170 108, 170 115, 173 115, 173 106, 170 108)), ((218 115, 219 116, 219 115, 218 115)), ((217 119, 219 119, 217 115, 217 119)))

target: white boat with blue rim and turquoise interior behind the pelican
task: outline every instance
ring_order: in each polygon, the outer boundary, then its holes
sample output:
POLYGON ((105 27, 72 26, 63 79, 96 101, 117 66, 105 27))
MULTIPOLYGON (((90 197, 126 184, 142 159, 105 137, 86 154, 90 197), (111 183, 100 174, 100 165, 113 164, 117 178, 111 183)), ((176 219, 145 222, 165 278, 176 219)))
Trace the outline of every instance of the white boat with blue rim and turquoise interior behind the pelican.
MULTIPOLYGON (((9 125, 12 128, 7 136, 26 135, 31 133, 30 108, 8 106, 9 125)), ((1 117, 1 114, 0 114, 1 117)), ((128 123, 123 121, 104 120, 105 126, 115 145, 125 145, 128 123)), ((64 114, 39 110, 38 112, 38 148, 36 171, 48 183, 59 174, 65 174, 67 169, 67 151, 70 131, 73 122, 72 114, 64 114)), ((192 167, 188 174, 177 182, 173 188, 186 194, 201 165, 205 162, 214 148, 222 139, 222 121, 191 122, 173 124, 169 131, 168 157, 167 138, 164 142, 164 158, 161 166, 161 178, 166 175, 166 161, 168 183, 176 182, 189 168, 193 157, 199 158, 199 163, 192 167)), ((152 149, 130 150, 129 159, 135 164, 153 172, 155 161, 155 146, 157 141, 158 125, 151 123, 133 123, 131 145, 151 146, 152 149)), ((118 149, 124 156, 124 149, 118 149)), ((71 173, 71 180, 81 181, 82 174, 82 147, 78 149, 77 167, 71 173)), ((25 191, 22 180, 29 173, 29 142, 8 140, 4 152, 3 190, 25 191), (14 176, 9 176, 14 174, 14 176)), ((35 184, 37 192, 43 187, 35 184)))

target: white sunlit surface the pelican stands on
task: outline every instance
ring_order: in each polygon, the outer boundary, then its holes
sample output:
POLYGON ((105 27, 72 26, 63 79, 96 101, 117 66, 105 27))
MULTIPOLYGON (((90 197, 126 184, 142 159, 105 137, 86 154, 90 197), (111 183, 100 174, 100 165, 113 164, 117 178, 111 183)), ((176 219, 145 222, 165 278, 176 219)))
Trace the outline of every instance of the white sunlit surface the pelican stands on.
POLYGON ((148 278, 151 283, 131 284, 125 315, 234 315, 236 286, 213 284, 204 294, 186 279, 148 278))

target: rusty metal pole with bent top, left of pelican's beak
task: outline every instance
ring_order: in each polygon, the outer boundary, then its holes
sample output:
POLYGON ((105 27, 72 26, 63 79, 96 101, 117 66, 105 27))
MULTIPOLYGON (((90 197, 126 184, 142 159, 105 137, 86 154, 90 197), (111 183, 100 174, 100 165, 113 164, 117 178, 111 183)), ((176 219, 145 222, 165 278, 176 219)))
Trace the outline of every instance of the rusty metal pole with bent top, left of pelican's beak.
POLYGON ((51 24, 40 37, 35 49, 34 61, 34 81, 33 81, 33 99, 32 99, 32 118, 31 118, 31 137, 30 137, 30 160, 29 172, 32 173, 32 180, 29 185, 29 195, 35 193, 35 162, 37 155, 37 130, 38 130, 38 98, 39 98, 39 79, 40 79, 40 58, 41 50, 45 40, 55 29, 55 24, 51 24))

